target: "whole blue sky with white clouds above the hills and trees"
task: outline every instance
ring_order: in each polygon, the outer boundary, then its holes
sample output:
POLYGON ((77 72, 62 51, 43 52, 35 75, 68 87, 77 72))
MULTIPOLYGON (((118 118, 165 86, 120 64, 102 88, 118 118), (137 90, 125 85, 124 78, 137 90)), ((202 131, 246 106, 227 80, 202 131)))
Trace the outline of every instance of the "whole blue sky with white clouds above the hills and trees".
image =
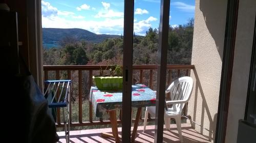
MULTIPOLYGON (((161 0, 135 0, 134 32, 145 35, 148 28, 158 28, 161 0)), ((41 1, 42 27, 82 28, 96 34, 123 34, 122 0, 44 0, 41 1)), ((169 25, 173 27, 194 18, 194 0, 172 0, 169 25)))

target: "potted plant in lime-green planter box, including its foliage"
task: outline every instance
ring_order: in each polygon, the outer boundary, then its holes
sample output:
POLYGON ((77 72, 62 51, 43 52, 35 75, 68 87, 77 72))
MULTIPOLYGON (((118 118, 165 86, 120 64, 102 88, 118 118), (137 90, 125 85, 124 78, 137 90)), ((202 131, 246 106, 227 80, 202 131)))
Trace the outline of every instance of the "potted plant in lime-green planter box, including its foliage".
MULTIPOLYGON (((122 89, 123 77, 122 77, 122 66, 113 65, 107 66, 109 68, 110 75, 105 75, 104 71, 100 69, 99 76, 93 76, 95 85, 99 90, 111 90, 111 89, 122 89)), ((106 70, 105 69, 105 70, 106 70)))

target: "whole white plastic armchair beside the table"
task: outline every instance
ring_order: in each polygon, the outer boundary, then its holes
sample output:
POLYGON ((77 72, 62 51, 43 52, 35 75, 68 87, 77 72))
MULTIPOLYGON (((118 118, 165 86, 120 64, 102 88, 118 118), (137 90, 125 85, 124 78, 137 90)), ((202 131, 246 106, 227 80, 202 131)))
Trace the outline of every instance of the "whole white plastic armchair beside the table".
MULTIPOLYGON (((193 90, 193 79, 191 77, 185 76, 180 77, 173 81, 165 94, 170 93, 170 101, 165 101, 167 109, 164 111, 164 123, 167 130, 170 130, 170 118, 174 118, 177 124, 177 129, 180 136, 180 141, 183 142, 181 134, 181 112, 184 105, 188 102, 191 91, 193 90), (172 105, 172 106, 168 106, 172 105)), ((148 113, 155 117, 156 107, 146 107, 145 118, 144 118, 144 130, 146 129, 148 113)))

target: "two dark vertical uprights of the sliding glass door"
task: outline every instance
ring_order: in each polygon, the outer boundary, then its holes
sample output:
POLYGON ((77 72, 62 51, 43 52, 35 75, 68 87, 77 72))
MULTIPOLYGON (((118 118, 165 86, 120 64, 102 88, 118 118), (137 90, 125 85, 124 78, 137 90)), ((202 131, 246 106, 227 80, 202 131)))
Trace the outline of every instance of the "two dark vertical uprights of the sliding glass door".
MULTIPOLYGON (((155 142, 163 140, 164 97, 167 65, 168 29, 170 0, 161 0, 155 142), (159 128, 158 128, 159 127, 159 128)), ((124 32, 123 32, 123 94, 122 94, 122 142, 131 141, 131 103, 133 73, 133 29, 134 0, 124 0, 124 32)))

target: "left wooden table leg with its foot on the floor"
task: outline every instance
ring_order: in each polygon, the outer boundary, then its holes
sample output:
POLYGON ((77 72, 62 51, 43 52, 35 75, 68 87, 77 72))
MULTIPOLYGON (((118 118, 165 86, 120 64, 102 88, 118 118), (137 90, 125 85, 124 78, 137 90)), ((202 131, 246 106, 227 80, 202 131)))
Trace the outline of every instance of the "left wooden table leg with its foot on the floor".
MULTIPOLYGON (((118 130, 117 130, 116 110, 109 110, 109 113, 110 113, 110 122, 111 122, 113 136, 115 137, 116 142, 120 142, 118 130)), ((109 133, 101 133, 101 136, 102 137, 113 137, 109 133)))

